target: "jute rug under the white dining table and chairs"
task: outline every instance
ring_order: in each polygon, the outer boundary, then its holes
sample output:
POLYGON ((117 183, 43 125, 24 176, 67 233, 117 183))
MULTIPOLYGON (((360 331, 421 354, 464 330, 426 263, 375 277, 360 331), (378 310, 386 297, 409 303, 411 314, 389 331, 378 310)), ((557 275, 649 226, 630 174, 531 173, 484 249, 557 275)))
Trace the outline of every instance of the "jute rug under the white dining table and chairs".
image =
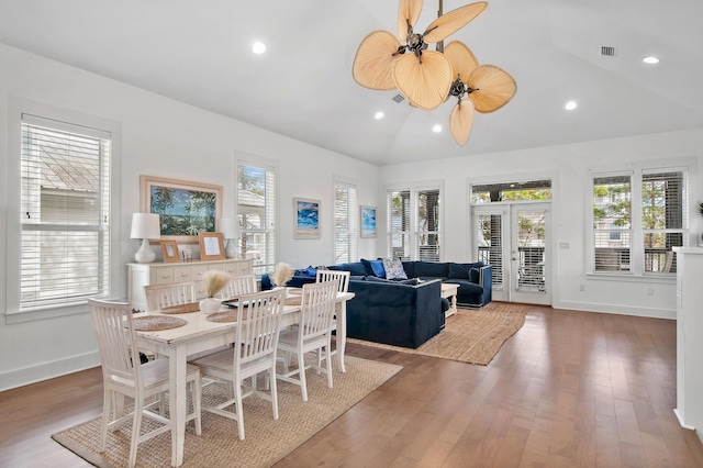
MULTIPOLYGON (((182 467, 269 467, 402 369, 349 356, 345 364, 346 374, 333 366, 332 389, 327 388, 324 374, 319 376, 308 370, 306 402, 302 401, 300 387, 279 380, 278 421, 274 421, 270 402, 257 397, 245 398, 244 441, 238 438, 236 422, 203 411, 201 436, 196 435, 193 422, 186 426, 182 467)), ((225 397, 224 386, 210 385, 203 388, 202 402, 219 402, 225 397)), ((107 449, 99 454, 100 420, 70 427, 52 438, 97 467, 127 466, 132 423, 109 432, 107 449)), ((145 417, 142 424, 149 423, 145 417)), ((146 441, 140 444, 136 466, 170 467, 170 433, 146 441)))

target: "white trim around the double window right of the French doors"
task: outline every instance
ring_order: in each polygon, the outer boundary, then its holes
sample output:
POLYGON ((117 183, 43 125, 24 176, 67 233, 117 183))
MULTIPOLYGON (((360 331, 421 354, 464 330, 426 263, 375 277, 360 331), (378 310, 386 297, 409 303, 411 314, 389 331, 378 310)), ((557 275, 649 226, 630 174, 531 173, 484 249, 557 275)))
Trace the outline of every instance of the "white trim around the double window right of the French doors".
MULTIPOLYGON (((676 275, 665 274, 646 274, 644 271, 644 237, 641 229, 641 203, 639 208, 635 209, 635 200, 633 199, 632 208, 632 239, 631 239, 631 271, 595 271, 595 258, 594 239, 593 239, 593 179, 595 177, 607 176, 632 176, 632 192, 641 193, 641 177, 644 174, 661 172, 661 171, 677 171, 681 170, 687 172, 687 191, 688 191, 688 216, 684 218, 683 229, 683 246, 695 245, 695 239, 692 241, 694 230, 692 229, 692 220, 695 218, 695 193, 698 193, 695 180, 698 177, 698 163, 695 158, 670 158, 670 159, 651 159, 641 160, 629 164, 622 164, 616 166, 599 166, 587 170, 584 181, 584 205, 583 213, 585 219, 585 242, 584 242, 584 255, 585 255, 585 276, 589 279, 594 280, 616 280, 616 281, 637 281, 651 282, 651 283, 670 283, 676 281, 676 275), (635 227, 638 226, 638 227, 635 227), (640 248, 641 247, 641 248, 640 248)), ((633 197, 634 198, 634 197, 633 197)), ((637 201, 641 202, 641 196, 637 197, 637 201)))

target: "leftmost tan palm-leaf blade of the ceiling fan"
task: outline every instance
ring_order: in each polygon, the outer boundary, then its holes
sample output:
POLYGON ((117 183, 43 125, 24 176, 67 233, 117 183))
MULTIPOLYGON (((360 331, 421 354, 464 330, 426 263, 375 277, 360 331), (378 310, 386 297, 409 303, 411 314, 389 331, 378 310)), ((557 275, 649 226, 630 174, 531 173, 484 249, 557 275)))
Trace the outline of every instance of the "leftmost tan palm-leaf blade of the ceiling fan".
POLYGON ((375 31, 361 41, 354 57, 352 76, 365 88, 387 91, 395 88, 393 82, 394 52, 400 42, 388 31, 375 31))

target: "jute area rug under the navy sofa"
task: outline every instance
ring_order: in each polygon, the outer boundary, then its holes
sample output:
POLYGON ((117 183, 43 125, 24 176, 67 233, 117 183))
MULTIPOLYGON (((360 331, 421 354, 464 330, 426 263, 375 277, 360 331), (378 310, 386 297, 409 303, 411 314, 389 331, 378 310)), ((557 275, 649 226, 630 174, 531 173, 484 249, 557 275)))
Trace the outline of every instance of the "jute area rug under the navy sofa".
POLYGON ((527 307, 491 302, 481 310, 458 309, 445 328, 416 349, 347 338, 347 343, 488 366, 503 343, 525 323, 527 307))

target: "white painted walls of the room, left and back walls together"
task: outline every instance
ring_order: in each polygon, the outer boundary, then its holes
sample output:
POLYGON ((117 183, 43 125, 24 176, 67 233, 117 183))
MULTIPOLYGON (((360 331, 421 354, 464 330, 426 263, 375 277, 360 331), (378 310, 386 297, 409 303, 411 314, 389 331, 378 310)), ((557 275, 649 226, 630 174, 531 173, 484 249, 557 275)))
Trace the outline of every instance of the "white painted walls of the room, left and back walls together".
MULTIPOLYGON (((360 238, 358 244, 358 256, 367 258, 376 256, 377 245, 378 252, 384 252, 384 188, 401 181, 443 180, 445 259, 456 261, 471 259, 467 222, 470 180, 546 175, 555 177, 557 187, 553 203, 555 238, 571 246, 554 250, 555 307, 674 316, 673 281, 614 282, 585 277, 585 171, 616 161, 631 164, 656 158, 693 158, 700 165, 703 129, 377 168, 0 44, 0 265, 3 266, 8 249, 16 248, 7 245, 5 191, 7 178, 11 176, 7 170, 8 102, 15 98, 120 123, 121 264, 131 261, 138 247, 137 241, 129 238, 129 232, 131 213, 140 208, 140 175, 222 185, 223 214, 232 215, 235 155, 254 155, 274 161, 280 181, 279 260, 297 267, 333 261, 332 181, 335 175, 357 181, 359 204, 379 208, 378 238, 360 238), (322 200, 321 239, 293 239, 293 197, 322 200), (587 286, 584 292, 578 290, 581 283, 587 286), (648 288, 654 289, 654 296, 646 296, 648 288)), ((480 125, 477 124, 475 131, 480 131, 480 125)), ((467 144, 470 145, 470 141, 467 144)), ((691 232, 698 233, 703 225, 693 215, 693 207, 700 200, 700 176, 695 176, 693 182, 691 232)), ((691 243, 694 242, 691 234, 691 243)), ((118 290, 126 296, 124 267, 115 280, 120 281, 118 290)), ((7 285, 5 268, 0 268, 0 285, 7 285)), ((0 288, 0 314, 4 314, 5 303, 7 290, 0 288)), ((12 325, 0 320, 0 391, 97 364, 97 347, 86 313, 12 325)))

